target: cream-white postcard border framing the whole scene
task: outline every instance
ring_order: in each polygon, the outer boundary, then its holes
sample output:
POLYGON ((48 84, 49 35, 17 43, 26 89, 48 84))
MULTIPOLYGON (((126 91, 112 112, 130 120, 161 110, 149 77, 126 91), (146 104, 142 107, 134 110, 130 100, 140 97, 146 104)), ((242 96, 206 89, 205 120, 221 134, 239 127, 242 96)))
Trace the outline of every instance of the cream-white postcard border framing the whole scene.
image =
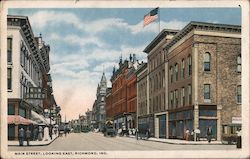
MULTIPOLYGON (((15 156, 7 151, 7 57, 6 57, 6 15, 8 8, 190 8, 190 7, 239 7, 242 8, 242 149, 233 151, 106 151, 102 156, 68 156, 68 158, 249 158, 249 2, 248 1, 2 1, 1 3, 1 54, 0 54, 0 106, 1 106, 1 156, 3 158, 65 158, 66 156, 15 156), (25 7, 24 7, 25 6, 25 7)), ((98 151, 96 151, 98 152, 98 151)))

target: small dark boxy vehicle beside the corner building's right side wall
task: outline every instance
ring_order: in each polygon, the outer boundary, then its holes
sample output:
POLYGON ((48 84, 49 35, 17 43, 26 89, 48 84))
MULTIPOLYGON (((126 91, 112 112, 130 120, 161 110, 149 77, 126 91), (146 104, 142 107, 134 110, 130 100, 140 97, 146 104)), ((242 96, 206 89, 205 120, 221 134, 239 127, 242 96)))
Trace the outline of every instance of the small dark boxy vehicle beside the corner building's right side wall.
POLYGON ((237 131, 241 129, 241 124, 226 124, 222 126, 222 143, 223 144, 236 144, 237 131))

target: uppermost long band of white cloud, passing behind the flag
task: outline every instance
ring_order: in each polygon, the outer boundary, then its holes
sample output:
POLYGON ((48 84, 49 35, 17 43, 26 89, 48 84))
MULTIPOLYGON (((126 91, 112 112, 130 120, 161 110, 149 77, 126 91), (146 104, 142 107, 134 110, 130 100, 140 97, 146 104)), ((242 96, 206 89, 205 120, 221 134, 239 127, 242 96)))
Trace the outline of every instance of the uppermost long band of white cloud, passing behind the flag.
MULTIPOLYGON (((95 35, 98 32, 121 28, 124 30, 130 30, 132 34, 146 33, 146 32, 159 32, 159 23, 155 21, 145 27, 143 27, 143 21, 138 22, 135 25, 130 25, 124 19, 121 18, 106 18, 98 19, 95 21, 82 21, 75 14, 67 12, 55 12, 55 11, 39 11, 30 16, 30 21, 32 26, 38 28, 45 27, 48 24, 58 24, 66 23, 71 24, 72 26, 78 28, 81 31, 84 31, 88 34, 95 35)), ((169 22, 161 21, 161 29, 181 29, 185 26, 187 22, 182 22, 178 20, 172 20, 169 22)))

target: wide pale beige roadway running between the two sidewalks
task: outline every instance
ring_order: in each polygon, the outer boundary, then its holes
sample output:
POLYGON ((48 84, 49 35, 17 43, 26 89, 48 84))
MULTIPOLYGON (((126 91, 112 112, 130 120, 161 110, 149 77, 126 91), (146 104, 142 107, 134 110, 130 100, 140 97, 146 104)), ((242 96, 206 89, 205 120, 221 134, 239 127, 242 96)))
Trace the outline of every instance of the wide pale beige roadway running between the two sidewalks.
POLYGON ((48 146, 9 146, 9 151, 235 150, 235 145, 176 145, 100 133, 71 133, 48 146))

